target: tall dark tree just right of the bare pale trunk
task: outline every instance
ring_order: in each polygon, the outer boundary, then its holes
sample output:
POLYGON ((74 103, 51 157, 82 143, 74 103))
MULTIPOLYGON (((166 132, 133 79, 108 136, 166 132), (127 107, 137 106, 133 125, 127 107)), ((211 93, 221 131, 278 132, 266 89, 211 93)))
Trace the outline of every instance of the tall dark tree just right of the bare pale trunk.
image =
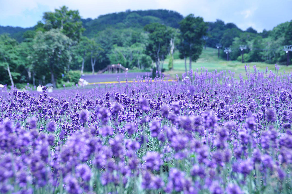
POLYGON ((180 32, 184 40, 184 53, 186 53, 190 59, 191 70, 192 61, 196 61, 202 53, 202 46, 204 43, 202 37, 207 33, 207 26, 203 18, 194 17, 193 14, 190 14, 180 22, 180 32))

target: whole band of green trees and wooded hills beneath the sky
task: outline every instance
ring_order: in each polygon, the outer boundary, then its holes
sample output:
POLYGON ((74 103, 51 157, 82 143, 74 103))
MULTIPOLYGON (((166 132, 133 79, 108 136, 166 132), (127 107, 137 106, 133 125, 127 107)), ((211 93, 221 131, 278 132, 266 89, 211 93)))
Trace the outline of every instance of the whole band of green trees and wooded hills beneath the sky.
POLYGON ((204 22, 201 17, 168 10, 111 13, 82 19, 78 10, 63 6, 45 12, 31 28, 0 26, 1 84, 74 84, 77 71, 103 69, 120 63, 131 69, 173 69, 173 53, 191 64, 203 46, 230 47, 231 60, 241 60, 239 45, 246 45, 244 61, 284 63, 284 45, 292 44, 292 20, 258 33, 242 31, 222 20, 204 22), (164 65, 164 60, 169 63, 164 65), (155 65, 154 65, 155 63, 155 65), (8 73, 7 73, 8 72, 8 73))

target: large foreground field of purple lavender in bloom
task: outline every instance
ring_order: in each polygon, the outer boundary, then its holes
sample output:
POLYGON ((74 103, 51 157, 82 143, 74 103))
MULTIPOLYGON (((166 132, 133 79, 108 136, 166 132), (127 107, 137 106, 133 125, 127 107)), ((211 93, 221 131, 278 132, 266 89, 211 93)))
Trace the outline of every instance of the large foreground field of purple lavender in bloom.
POLYGON ((291 193, 292 73, 278 70, 4 88, 0 193, 291 193))

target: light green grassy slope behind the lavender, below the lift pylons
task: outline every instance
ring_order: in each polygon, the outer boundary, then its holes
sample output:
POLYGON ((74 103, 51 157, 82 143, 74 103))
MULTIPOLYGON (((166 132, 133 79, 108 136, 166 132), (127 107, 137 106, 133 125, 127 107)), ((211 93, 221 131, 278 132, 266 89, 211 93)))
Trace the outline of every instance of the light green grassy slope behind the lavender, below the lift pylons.
MULTIPOLYGON (((167 68, 168 65, 168 59, 164 61, 164 68, 167 68)), ((197 69, 201 71, 201 67, 205 67, 208 69, 209 72, 217 70, 231 70, 231 72, 235 72, 236 77, 240 73, 242 73, 243 76, 245 76, 245 69, 244 65, 249 65, 251 71, 253 71, 253 65, 256 65, 258 70, 265 70, 266 67, 268 67, 269 71, 275 70, 274 64, 268 64, 264 62, 250 62, 250 63, 241 63, 241 61, 226 61, 223 59, 218 58, 218 51, 216 48, 210 48, 207 47, 206 50, 203 49, 203 52, 200 56, 200 58, 197 60, 197 62, 192 62, 192 69, 196 71, 197 69)), ((174 70, 166 70, 164 73, 165 75, 170 75, 171 77, 175 77, 176 74, 179 76, 185 72, 185 61, 183 59, 175 59, 173 61, 174 70)), ((280 69, 279 72, 291 72, 292 71, 292 65, 286 66, 286 65, 279 65, 280 69)), ((187 59, 187 70, 189 70, 189 60, 187 59)))

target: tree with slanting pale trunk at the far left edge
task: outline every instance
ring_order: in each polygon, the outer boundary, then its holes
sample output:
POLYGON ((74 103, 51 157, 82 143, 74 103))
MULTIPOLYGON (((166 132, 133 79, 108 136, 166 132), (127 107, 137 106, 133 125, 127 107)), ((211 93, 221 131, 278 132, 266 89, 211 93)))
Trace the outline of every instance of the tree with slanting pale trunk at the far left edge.
MULTIPOLYGON (((13 77, 19 76, 20 74, 16 72, 17 63, 17 53, 15 47, 18 45, 15 39, 12 39, 8 34, 0 35, 0 69, 4 69, 8 72, 8 76, 11 82, 11 86, 14 87, 13 77), (12 68, 11 68, 12 65, 12 68)), ((4 81, 7 77, 5 71, 1 70, 0 75, 4 81)))

